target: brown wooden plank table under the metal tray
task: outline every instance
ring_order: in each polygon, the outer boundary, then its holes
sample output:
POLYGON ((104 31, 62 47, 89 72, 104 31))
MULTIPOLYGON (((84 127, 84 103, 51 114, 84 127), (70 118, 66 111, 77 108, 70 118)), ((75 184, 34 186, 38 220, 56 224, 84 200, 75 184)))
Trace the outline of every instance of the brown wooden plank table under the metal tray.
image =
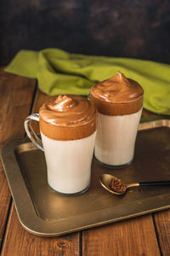
MULTIPOLYGON (((0 147, 25 137, 24 119, 37 113, 49 96, 37 89, 34 79, 0 69, 0 147)), ((151 114, 143 111, 143 115, 151 114)), ((24 230, 15 212, 0 163, 0 251, 2 256, 156 256, 170 255, 170 210, 131 218, 54 238, 34 236, 24 230)))

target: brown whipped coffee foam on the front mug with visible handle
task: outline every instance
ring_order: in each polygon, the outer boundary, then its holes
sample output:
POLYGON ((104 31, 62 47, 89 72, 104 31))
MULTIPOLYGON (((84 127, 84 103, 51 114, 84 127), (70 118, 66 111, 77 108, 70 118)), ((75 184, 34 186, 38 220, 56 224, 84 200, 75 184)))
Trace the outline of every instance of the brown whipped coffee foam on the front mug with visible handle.
POLYGON ((96 130, 97 110, 82 96, 58 96, 39 110, 40 130, 54 140, 88 137, 96 130))

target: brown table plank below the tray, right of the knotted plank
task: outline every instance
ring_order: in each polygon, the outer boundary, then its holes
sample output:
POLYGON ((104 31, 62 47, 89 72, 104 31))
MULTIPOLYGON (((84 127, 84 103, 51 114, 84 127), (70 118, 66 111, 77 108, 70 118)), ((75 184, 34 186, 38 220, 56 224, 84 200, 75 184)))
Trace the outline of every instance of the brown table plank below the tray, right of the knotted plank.
POLYGON ((159 256, 150 215, 82 231, 83 256, 159 256))

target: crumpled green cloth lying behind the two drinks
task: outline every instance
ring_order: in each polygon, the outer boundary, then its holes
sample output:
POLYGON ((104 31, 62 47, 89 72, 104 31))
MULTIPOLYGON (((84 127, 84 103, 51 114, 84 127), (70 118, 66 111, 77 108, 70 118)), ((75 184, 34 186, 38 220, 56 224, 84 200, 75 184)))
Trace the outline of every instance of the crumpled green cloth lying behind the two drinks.
POLYGON ((170 114, 170 65, 156 61, 71 54, 61 49, 20 50, 8 73, 37 79, 39 89, 54 96, 88 95, 91 86, 118 71, 144 89, 144 108, 170 114))

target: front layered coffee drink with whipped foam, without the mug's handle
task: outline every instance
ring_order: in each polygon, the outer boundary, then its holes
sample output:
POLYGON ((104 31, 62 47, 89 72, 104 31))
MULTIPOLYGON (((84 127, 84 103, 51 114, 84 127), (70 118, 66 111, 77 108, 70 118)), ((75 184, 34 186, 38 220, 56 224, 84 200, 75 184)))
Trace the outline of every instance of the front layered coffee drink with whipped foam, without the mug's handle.
POLYGON ((48 185, 59 194, 77 195, 90 184, 97 110, 82 96, 58 96, 39 110, 48 185))

